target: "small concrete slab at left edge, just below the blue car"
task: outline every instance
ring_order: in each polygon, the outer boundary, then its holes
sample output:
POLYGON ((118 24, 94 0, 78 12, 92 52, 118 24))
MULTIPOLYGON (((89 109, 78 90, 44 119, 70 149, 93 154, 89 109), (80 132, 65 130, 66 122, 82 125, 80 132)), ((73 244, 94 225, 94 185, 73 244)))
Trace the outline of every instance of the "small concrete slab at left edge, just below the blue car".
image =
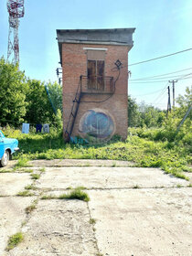
POLYGON ((14 196, 32 183, 28 173, 0 173, 0 180, 0 196, 14 196))

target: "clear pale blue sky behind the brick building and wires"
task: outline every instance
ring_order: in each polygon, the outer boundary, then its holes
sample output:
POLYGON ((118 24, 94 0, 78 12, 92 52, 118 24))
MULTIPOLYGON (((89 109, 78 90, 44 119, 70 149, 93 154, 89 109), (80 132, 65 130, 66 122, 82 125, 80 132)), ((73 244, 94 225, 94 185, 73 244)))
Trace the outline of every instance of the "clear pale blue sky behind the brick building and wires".
MULTIPOLYGON (((8 13, 5 0, 0 2, 0 25, 0 57, 4 55, 6 58, 8 13)), ((25 0, 25 16, 20 19, 19 27, 20 69, 31 79, 57 80, 56 29, 114 27, 136 28, 129 64, 192 48, 192 1, 25 0)), ((176 83, 176 96, 184 94, 186 87, 192 85, 192 75, 188 75, 192 69, 189 68, 192 68, 192 50, 130 66, 129 94, 137 102, 166 108, 166 80, 185 78, 176 83), (151 82, 137 80, 181 69, 187 70, 151 82)))

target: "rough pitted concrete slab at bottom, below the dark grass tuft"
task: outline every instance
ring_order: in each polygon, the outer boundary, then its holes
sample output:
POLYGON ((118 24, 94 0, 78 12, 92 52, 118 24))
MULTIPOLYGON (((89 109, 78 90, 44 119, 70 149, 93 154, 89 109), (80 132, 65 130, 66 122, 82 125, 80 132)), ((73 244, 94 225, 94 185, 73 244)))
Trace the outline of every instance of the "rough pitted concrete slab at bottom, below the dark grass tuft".
POLYGON ((95 256, 97 245, 87 203, 40 200, 22 229, 25 240, 9 256, 95 256))

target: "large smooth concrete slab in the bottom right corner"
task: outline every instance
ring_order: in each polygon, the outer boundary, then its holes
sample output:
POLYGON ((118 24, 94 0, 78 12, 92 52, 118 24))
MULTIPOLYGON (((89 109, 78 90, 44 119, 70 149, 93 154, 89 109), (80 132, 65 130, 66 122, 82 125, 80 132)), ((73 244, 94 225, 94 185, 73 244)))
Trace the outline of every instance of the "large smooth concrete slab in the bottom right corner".
POLYGON ((89 191, 103 255, 187 256, 192 251, 192 190, 89 191))

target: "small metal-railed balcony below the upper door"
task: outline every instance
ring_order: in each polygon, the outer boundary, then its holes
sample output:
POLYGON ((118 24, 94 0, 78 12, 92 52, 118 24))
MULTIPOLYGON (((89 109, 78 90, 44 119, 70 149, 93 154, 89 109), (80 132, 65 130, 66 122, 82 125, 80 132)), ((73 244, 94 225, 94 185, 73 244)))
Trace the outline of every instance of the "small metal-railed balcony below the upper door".
POLYGON ((113 94, 113 77, 80 76, 80 91, 84 94, 113 94))

